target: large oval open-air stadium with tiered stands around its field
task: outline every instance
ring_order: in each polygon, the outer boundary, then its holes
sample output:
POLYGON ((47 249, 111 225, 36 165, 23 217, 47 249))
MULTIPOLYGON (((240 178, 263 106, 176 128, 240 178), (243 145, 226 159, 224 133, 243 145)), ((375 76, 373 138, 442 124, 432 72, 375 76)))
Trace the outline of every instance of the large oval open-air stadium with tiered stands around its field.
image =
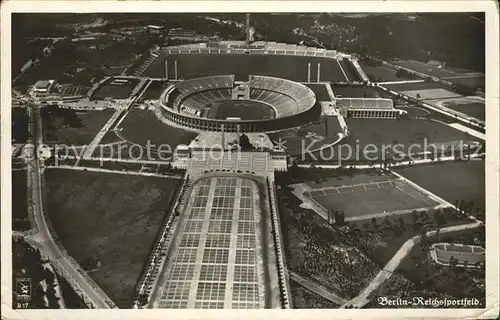
POLYGON ((185 80, 169 86, 160 97, 160 104, 166 121, 194 131, 272 132, 311 123, 321 114, 311 89, 266 76, 250 76, 248 82, 238 84, 233 75, 185 80), (229 103, 234 114, 226 112, 223 119, 214 116, 210 109, 218 102, 229 103), (241 119, 236 114, 238 108, 246 108, 247 113, 260 112, 257 105, 271 108, 272 116, 257 120, 241 119))

